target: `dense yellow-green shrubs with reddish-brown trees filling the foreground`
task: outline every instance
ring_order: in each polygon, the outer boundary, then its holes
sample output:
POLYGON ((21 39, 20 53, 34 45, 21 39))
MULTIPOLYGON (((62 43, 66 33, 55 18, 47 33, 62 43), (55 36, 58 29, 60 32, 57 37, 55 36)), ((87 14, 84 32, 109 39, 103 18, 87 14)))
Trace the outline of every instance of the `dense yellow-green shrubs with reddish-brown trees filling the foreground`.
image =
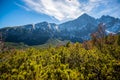
POLYGON ((0 80, 119 80, 120 35, 91 36, 46 49, 1 47, 0 80))

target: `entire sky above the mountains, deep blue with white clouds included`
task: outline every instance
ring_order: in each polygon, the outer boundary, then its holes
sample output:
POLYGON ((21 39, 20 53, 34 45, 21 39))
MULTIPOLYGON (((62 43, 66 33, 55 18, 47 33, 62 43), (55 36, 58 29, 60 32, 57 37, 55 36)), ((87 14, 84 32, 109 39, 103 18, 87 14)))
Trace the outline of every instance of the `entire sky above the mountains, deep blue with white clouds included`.
POLYGON ((120 18, 120 0, 0 0, 0 27, 61 23, 87 13, 120 18))

